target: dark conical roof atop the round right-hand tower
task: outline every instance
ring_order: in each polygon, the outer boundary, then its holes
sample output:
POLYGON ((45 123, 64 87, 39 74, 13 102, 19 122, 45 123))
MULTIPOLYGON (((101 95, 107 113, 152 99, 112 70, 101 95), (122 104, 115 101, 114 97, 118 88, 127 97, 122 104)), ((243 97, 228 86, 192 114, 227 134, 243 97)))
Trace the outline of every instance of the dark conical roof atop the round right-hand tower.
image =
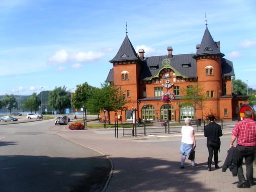
POLYGON ((218 46, 214 42, 207 26, 206 26, 200 47, 197 50, 197 53, 193 56, 193 58, 198 55, 205 55, 205 54, 220 54, 222 57, 224 56, 224 54, 220 52, 218 46))

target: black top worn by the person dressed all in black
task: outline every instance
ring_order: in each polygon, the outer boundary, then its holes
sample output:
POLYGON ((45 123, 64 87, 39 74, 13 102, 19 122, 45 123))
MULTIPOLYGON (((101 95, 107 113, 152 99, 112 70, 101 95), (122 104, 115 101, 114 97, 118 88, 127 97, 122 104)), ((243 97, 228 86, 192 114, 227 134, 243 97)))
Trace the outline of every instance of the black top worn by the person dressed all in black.
POLYGON ((220 137, 222 136, 220 125, 215 122, 209 123, 205 126, 204 136, 207 137, 207 142, 220 142, 220 137))

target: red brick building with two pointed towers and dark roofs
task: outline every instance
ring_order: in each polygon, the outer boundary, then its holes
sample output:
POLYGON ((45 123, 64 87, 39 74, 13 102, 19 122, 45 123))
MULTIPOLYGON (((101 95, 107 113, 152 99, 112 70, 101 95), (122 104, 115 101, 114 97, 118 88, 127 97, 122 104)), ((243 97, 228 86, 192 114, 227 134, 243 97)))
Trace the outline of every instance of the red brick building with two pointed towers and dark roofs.
MULTIPOLYGON (((137 117, 150 121, 167 120, 167 114, 171 121, 187 117, 206 119, 208 115, 229 120, 237 118, 238 108, 247 103, 247 96, 232 94, 233 64, 224 58, 220 42, 214 42, 207 25, 196 51, 196 54, 174 55, 173 48, 167 47, 166 55, 145 57, 143 49, 136 53, 126 34, 119 51, 110 61, 113 68, 107 77, 107 81, 120 86, 126 100, 130 101, 126 104, 128 110, 122 111, 122 121, 132 120, 132 108, 138 110, 137 117), (171 78, 164 79, 166 75, 171 78), (166 80, 172 84, 169 91, 177 95, 169 106, 161 101, 166 80), (181 90, 197 82, 208 97, 204 106, 196 110, 192 106, 180 106, 184 96, 181 90)), ((111 121, 114 121, 114 112, 111 121)))

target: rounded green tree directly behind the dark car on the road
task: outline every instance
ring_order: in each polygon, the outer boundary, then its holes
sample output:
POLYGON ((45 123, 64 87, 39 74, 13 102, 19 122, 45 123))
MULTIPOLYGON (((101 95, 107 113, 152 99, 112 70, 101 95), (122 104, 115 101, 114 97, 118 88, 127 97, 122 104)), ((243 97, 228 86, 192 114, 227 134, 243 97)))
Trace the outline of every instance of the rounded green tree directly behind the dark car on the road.
POLYGON ((70 107, 71 98, 69 92, 66 91, 65 85, 61 88, 55 87, 52 91, 49 92, 49 105, 53 109, 59 110, 59 113, 62 113, 62 110, 70 107))

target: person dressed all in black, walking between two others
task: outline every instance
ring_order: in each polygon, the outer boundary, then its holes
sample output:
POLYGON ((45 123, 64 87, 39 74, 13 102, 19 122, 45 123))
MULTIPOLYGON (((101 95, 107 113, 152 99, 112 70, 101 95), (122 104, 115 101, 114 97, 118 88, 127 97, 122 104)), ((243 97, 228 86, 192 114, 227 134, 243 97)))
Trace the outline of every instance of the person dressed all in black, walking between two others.
POLYGON ((220 125, 215 123, 215 117, 209 116, 210 123, 205 127, 204 136, 207 137, 207 148, 209 152, 208 156, 208 171, 211 171, 212 157, 214 155, 215 168, 218 166, 218 150, 220 148, 220 137, 222 136, 222 130, 220 125))

